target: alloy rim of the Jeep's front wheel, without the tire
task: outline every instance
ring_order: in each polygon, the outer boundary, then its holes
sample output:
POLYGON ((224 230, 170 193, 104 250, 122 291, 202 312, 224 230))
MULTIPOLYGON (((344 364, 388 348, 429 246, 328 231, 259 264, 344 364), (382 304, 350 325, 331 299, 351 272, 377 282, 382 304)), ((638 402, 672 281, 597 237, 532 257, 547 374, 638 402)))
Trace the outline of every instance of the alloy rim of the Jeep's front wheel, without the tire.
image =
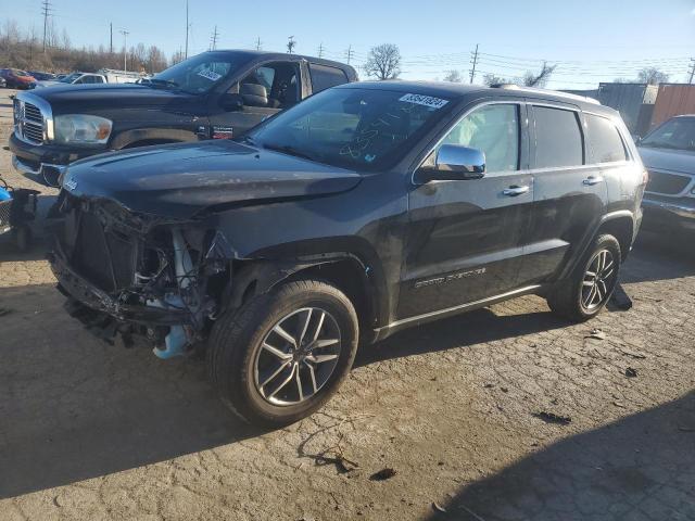
POLYGON ((256 350, 254 385, 276 406, 298 405, 328 382, 341 352, 340 328, 333 316, 304 307, 278 320, 256 350))

